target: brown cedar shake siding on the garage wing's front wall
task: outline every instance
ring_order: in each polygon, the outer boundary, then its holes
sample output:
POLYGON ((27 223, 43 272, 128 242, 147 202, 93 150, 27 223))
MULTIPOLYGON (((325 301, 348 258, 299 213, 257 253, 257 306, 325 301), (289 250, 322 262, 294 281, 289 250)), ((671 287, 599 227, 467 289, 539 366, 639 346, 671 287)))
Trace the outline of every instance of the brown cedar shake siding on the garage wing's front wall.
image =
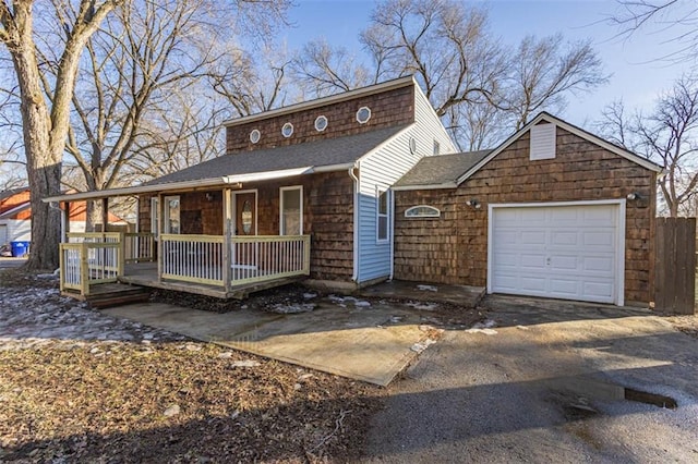
POLYGON ((625 198, 625 300, 653 297, 657 174, 557 127, 555 159, 530 161, 526 132, 457 188, 395 193, 395 278, 466 285, 486 284, 488 205, 625 198), (466 205, 477 198, 481 209, 466 205), (441 218, 407 219, 416 205, 441 218))

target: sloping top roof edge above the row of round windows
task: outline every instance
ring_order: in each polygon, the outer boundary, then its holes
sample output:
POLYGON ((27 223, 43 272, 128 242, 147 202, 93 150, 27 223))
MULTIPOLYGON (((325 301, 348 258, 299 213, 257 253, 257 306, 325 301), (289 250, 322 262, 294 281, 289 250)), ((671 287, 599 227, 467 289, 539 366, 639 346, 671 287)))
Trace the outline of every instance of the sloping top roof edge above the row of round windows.
MULTIPOLYGON (((242 118, 236 118, 226 120, 222 125, 230 127, 233 125, 240 125, 253 121, 262 121, 265 119, 292 113, 300 110, 306 110, 311 108, 322 107, 329 103, 336 103, 338 101, 350 100, 357 97, 363 97, 366 95, 378 94, 381 91, 390 90, 394 88, 407 87, 408 85, 417 85, 412 75, 398 77, 392 81, 382 82, 378 84, 369 85, 366 87, 356 88, 353 90, 342 91, 341 94, 334 94, 327 97, 315 98, 313 100, 301 101, 298 103, 289 105, 288 107, 281 107, 269 111, 263 111, 256 114, 250 114, 242 118)), ((419 86, 418 86, 419 87, 419 86)))

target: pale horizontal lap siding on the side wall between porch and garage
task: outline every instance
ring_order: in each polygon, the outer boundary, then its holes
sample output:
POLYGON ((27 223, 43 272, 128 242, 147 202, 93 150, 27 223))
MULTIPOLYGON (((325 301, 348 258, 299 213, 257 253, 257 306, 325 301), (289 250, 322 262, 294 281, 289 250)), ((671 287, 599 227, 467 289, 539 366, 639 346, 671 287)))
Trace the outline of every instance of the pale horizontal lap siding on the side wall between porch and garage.
POLYGON ((434 141, 441 145, 442 155, 456 151, 454 143, 429 100, 419 86, 416 85, 414 88, 414 123, 359 161, 359 272, 357 276, 359 283, 390 274, 393 202, 389 202, 389 241, 378 242, 376 237, 377 188, 388 190, 423 156, 431 156, 434 141), (413 154, 410 152, 412 137, 417 143, 417 150, 413 154))

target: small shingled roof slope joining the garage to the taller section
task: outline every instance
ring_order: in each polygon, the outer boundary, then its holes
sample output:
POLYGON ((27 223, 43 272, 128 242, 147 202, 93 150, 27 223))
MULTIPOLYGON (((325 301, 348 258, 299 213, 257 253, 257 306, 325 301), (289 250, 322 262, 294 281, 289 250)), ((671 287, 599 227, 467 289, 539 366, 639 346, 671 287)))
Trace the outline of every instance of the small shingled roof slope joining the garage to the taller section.
POLYGON ((424 157, 395 186, 399 190, 399 187, 422 185, 455 185, 460 175, 482 161, 490 152, 492 150, 424 157))

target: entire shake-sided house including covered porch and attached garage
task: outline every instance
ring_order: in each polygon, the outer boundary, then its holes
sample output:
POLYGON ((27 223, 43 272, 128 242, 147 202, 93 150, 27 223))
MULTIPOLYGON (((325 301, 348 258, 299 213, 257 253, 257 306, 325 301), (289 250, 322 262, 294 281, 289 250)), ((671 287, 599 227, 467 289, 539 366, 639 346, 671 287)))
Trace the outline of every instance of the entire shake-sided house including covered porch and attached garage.
POLYGON ((111 197, 139 198, 137 233, 61 245, 61 288, 85 294, 118 280, 243 297, 297 278, 344 290, 396 278, 617 305, 652 298, 660 168, 551 114, 493 150, 457 152, 404 77, 226 130, 219 158, 139 186, 47 198, 101 198, 105 209, 111 197))

